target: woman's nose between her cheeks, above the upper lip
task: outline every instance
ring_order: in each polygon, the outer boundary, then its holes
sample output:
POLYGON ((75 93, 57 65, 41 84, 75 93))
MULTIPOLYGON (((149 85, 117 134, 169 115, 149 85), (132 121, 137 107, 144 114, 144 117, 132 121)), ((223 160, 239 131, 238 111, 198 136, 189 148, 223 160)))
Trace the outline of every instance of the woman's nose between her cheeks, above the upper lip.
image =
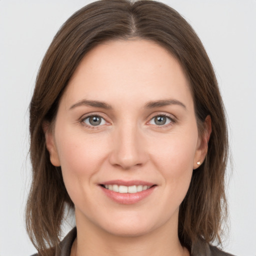
POLYGON ((121 125, 111 137, 109 162, 122 169, 143 165, 147 160, 143 134, 135 125, 121 125))

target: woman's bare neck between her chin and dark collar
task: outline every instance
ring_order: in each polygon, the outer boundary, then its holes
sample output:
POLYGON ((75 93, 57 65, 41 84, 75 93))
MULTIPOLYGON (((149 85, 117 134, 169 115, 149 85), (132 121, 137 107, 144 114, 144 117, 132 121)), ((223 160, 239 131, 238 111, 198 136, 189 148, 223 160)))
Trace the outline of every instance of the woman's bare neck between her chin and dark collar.
POLYGON ((176 223, 164 224, 153 231, 133 236, 111 234, 76 216, 77 237, 71 256, 188 256, 177 235, 176 223), (84 225, 85 224, 85 225, 84 225))

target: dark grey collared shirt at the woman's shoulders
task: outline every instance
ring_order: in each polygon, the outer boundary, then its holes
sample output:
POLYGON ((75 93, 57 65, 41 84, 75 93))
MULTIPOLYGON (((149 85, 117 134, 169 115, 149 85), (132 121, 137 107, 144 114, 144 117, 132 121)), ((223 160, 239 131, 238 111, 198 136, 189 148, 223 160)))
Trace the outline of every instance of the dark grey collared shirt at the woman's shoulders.
MULTIPOLYGON (((74 227, 59 243, 56 248, 55 256, 70 256, 71 247, 73 241, 76 237, 76 227, 74 227)), ((32 256, 37 256, 33 254, 32 256)), ((209 245, 204 242, 199 242, 197 244, 192 244, 191 256, 234 256, 221 251, 215 246, 209 245)))

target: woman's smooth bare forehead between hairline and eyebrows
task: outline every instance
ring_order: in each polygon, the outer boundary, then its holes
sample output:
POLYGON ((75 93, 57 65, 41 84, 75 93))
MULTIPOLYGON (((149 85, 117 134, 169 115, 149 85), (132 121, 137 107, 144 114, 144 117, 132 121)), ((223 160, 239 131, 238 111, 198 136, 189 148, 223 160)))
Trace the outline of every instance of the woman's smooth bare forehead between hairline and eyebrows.
POLYGON ((91 49, 74 71, 63 97, 70 104, 82 98, 140 99, 142 103, 164 97, 191 99, 191 93, 182 67, 165 48, 134 39, 107 41, 91 49))

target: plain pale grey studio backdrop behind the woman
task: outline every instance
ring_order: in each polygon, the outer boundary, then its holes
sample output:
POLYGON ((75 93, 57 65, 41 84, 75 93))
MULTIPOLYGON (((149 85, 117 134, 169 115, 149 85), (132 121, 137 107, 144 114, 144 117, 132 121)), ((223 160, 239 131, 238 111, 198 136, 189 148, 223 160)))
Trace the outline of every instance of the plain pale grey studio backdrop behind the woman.
MULTIPOLYGON (((23 220, 31 169, 28 104, 54 34, 88 2, 0 0, 0 256, 35 252, 23 220)), ((228 115, 233 172, 230 176, 229 167, 224 248, 256 256, 256 0, 163 2, 179 11, 202 40, 228 115)))

